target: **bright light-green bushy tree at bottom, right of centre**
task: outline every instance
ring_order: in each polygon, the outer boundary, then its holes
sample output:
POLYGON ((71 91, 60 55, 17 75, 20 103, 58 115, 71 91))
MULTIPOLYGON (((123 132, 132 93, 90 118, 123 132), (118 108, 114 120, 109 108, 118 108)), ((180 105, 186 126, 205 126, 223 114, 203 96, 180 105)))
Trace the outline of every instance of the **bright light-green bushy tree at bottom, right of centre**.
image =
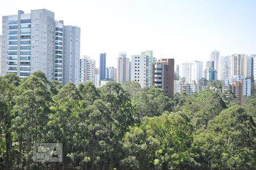
POLYGON ((192 125, 184 113, 145 117, 123 139, 123 168, 177 169, 195 166, 189 147, 192 125))

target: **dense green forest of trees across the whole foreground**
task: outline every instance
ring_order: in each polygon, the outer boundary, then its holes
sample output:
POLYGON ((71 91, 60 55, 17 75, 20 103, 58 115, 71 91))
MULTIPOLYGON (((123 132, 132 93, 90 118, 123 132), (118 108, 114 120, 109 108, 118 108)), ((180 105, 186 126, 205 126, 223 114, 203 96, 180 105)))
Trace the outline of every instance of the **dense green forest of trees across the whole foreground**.
POLYGON ((0 169, 255 169, 256 96, 237 103, 229 91, 169 99, 135 82, 76 87, 40 71, 7 74, 0 77, 0 169), (33 143, 57 142, 63 162, 33 162, 33 143))

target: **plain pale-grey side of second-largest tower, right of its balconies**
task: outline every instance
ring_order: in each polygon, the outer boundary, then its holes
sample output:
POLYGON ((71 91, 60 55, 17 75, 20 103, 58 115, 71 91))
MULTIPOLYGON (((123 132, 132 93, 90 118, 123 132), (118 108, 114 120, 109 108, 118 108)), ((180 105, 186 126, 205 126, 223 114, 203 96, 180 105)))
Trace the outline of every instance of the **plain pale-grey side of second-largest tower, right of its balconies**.
POLYGON ((80 77, 80 28, 64 26, 63 83, 79 84, 80 77))

